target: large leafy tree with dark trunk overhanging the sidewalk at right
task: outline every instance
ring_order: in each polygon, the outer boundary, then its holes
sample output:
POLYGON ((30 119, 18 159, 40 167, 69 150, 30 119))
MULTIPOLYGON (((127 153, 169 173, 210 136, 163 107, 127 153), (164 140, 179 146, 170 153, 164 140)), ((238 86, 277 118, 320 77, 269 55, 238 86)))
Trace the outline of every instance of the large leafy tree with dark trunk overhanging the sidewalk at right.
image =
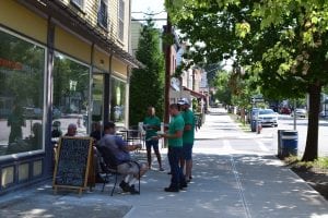
POLYGON ((316 159, 320 90, 328 83, 328 3, 167 0, 166 8, 191 44, 203 43, 195 60, 218 61, 230 53, 270 99, 309 94, 303 160, 316 159))

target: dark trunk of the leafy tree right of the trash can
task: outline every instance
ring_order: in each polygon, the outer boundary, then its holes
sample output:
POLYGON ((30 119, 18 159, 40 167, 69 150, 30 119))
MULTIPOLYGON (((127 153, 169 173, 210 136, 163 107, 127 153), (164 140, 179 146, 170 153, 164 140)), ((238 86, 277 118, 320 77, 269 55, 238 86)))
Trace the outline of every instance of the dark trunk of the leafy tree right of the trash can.
POLYGON ((309 108, 305 152, 302 161, 314 161, 318 158, 318 124, 321 86, 309 85, 309 108))

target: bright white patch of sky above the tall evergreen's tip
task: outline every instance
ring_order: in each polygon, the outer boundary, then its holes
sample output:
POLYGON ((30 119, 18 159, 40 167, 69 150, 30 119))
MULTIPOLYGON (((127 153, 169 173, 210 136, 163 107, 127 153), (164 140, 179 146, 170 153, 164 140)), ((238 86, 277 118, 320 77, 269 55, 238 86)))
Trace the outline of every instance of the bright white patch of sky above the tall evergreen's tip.
MULTIPOLYGON (((132 0, 132 10, 131 16, 133 19, 144 19, 148 17, 145 14, 136 13, 136 12, 143 12, 143 13, 160 13, 154 15, 153 19, 166 19, 166 12, 164 9, 164 0, 132 0)), ((142 23, 142 21, 141 21, 142 23)), ((163 25, 166 24, 166 21, 155 21, 156 27, 162 28, 163 25)))

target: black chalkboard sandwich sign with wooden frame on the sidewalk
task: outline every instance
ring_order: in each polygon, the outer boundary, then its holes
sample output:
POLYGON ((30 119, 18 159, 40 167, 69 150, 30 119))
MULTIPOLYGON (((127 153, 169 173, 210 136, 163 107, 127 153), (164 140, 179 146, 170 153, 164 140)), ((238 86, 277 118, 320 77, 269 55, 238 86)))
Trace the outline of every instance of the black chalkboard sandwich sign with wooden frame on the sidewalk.
POLYGON ((91 137, 61 137, 57 152, 52 185, 82 191, 86 187, 92 154, 91 137))

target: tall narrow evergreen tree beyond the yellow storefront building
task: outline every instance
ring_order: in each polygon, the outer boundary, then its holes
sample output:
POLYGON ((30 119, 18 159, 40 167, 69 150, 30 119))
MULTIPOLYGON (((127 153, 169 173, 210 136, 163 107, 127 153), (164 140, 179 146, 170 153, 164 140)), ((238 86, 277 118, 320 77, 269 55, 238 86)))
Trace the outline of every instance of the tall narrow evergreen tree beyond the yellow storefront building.
POLYGON ((142 27, 137 59, 144 64, 134 69, 130 78, 130 124, 143 121, 147 107, 153 106, 162 118, 164 110, 164 56, 161 51, 160 32, 151 19, 142 27))

